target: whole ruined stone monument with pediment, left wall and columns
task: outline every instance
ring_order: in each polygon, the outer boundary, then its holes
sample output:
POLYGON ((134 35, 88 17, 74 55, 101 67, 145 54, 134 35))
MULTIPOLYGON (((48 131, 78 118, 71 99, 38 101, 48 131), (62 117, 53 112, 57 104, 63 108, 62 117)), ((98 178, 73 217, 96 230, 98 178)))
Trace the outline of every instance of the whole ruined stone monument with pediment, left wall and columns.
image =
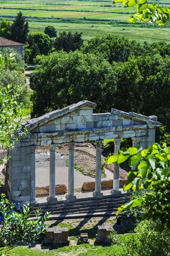
MULTIPOLYGON (((133 146, 147 148, 155 142, 155 129, 162 124, 156 116, 144 116, 133 112, 111 109, 111 113, 93 114, 96 104, 80 101, 63 109, 52 111, 24 124, 28 133, 9 151, 11 156, 6 171, 7 194, 13 200, 35 203, 35 148, 50 147, 50 184, 47 201, 56 201, 55 195, 55 148, 57 144, 68 143, 68 193, 66 199, 75 201, 74 195, 74 145, 76 142, 96 141, 95 198, 103 197, 101 192, 101 143, 113 139, 115 153, 120 149, 121 138, 132 138, 133 146)), ((114 164, 111 195, 119 193, 119 165, 114 164)))

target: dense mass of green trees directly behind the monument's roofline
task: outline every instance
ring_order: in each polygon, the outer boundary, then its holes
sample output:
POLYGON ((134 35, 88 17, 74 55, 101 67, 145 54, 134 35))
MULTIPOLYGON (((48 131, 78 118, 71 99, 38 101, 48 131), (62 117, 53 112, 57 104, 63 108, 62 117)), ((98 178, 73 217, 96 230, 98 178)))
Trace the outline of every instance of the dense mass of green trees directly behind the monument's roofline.
POLYGON ((134 40, 108 35, 88 40, 75 52, 37 56, 39 67, 30 80, 33 116, 84 99, 97 103, 98 112, 116 108, 157 115, 164 125, 157 141, 168 142, 164 132, 170 132, 169 55, 170 47, 165 43, 141 46, 134 40))

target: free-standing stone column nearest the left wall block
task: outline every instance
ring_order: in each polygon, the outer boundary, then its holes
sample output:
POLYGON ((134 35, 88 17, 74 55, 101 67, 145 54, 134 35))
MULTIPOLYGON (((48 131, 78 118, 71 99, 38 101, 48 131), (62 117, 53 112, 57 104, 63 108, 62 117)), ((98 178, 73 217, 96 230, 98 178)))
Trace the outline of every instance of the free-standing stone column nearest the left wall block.
POLYGON ((57 201, 55 197, 55 149, 56 144, 50 145, 50 186, 47 201, 57 201))

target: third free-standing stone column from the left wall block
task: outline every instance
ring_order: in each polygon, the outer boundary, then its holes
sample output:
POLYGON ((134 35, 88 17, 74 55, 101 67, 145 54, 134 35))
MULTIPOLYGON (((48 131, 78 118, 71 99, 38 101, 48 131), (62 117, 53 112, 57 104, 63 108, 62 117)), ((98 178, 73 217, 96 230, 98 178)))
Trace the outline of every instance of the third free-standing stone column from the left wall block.
POLYGON ((102 166, 102 141, 96 141, 96 174, 95 174, 95 197, 103 197, 101 193, 101 166, 102 166))

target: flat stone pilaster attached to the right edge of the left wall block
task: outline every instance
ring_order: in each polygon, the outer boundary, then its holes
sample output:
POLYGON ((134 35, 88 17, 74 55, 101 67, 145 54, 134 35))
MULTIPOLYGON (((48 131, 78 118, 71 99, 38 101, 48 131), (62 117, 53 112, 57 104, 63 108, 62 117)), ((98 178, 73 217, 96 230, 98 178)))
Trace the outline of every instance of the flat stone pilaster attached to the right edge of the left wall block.
POLYGON ((35 146, 30 147, 30 203, 35 203, 35 146))

